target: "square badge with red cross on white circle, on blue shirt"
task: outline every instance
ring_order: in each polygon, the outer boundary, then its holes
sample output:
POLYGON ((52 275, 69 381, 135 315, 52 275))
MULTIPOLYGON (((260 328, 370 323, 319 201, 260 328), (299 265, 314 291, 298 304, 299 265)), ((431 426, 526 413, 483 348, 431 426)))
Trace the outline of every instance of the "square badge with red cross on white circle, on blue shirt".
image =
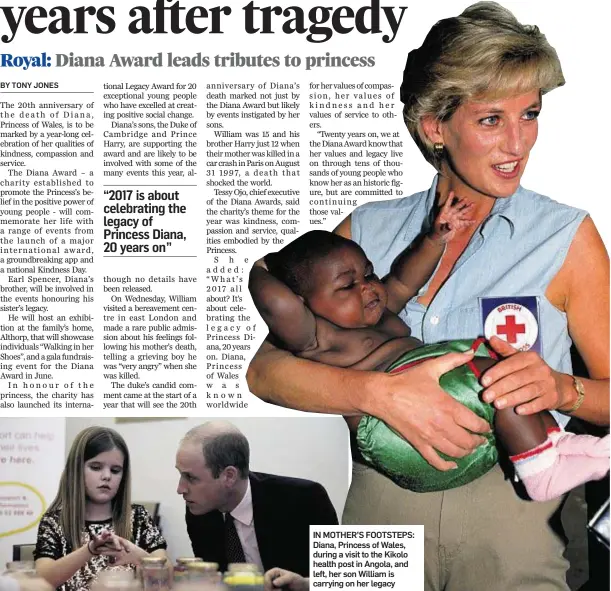
POLYGON ((536 297, 481 298, 484 336, 497 336, 519 351, 540 350, 536 297))

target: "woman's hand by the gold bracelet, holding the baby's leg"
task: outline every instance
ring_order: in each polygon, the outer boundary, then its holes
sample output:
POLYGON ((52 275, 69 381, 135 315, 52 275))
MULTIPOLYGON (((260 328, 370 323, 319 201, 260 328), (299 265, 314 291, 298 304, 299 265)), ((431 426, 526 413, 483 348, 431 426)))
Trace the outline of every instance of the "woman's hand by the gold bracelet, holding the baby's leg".
POLYGON ((494 336, 490 338, 490 345, 503 360, 482 377, 485 402, 494 403, 498 409, 515 407, 520 415, 566 405, 568 401, 561 394, 564 374, 554 371, 534 351, 520 352, 494 336))

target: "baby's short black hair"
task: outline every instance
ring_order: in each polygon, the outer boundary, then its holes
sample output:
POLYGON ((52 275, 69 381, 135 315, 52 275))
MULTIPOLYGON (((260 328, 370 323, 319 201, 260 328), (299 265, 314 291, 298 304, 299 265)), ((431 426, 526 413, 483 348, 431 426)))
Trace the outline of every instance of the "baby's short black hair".
POLYGON ((365 257, 356 242, 333 232, 311 230, 278 252, 266 255, 265 265, 276 279, 297 295, 307 296, 312 288, 314 265, 342 248, 354 248, 365 257))

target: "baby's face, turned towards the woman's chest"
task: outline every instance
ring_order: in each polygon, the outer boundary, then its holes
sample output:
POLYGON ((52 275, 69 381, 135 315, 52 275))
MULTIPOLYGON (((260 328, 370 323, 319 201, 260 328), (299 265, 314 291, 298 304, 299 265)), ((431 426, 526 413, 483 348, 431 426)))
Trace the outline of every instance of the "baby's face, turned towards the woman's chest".
POLYGON ((337 326, 364 328, 380 321, 387 295, 363 253, 345 246, 315 263, 305 300, 314 314, 337 326))

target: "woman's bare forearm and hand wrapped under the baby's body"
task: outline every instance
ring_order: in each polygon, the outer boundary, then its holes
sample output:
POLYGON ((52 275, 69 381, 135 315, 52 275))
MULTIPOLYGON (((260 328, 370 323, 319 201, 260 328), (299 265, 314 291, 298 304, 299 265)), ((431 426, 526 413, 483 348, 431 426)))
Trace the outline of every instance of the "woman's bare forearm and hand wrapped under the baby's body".
POLYGON ((248 368, 250 391, 266 402, 309 412, 379 418, 407 439, 431 466, 450 470, 450 457, 470 454, 490 425, 456 402, 439 385, 439 377, 473 358, 448 353, 389 375, 338 368, 294 357, 264 341, 248 368))

